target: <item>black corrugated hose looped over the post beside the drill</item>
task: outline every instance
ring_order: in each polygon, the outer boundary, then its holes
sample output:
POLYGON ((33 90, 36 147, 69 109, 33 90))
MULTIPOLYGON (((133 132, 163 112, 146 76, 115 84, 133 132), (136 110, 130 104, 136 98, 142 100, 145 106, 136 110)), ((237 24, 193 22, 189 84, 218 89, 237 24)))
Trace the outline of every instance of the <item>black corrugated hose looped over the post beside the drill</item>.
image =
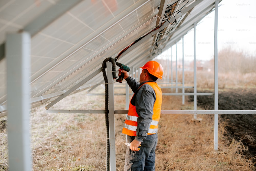
POLYGON ((106 171, 110 169, 109 163, 109 85, 108 85, 108 78, 106 75, 105 68, 107 67, 106 62, 112 62, 112 77, 116 79, 116 70, 115 70, 115 60, 113 58, 106 58, 102 63, 102 74, 105 81, 105 123, 106 123, 106 171))

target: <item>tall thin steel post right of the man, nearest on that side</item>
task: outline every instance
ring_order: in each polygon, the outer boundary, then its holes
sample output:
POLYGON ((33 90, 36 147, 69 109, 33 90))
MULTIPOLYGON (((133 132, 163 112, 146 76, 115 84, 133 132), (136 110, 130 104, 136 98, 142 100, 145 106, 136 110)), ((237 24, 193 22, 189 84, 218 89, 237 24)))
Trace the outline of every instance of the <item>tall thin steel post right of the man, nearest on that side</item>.
MULTIPOLYGON (((218 4, 215 1, 214 22, 214 110, 218 110, 218 4)), ((214 149, 218 150, 218 114, 214 114, 214 149)))

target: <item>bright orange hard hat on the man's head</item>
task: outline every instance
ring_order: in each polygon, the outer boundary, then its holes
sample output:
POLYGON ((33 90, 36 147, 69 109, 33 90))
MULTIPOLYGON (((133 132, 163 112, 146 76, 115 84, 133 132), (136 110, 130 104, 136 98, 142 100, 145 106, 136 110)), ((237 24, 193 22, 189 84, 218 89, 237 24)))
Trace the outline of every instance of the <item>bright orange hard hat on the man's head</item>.
POLYGON ((148 61, 143 67, 140 68, 148 70, 149 73, 157 78, 160 78, 161 80, 163 78, 163 67, 156 61, 148 61))

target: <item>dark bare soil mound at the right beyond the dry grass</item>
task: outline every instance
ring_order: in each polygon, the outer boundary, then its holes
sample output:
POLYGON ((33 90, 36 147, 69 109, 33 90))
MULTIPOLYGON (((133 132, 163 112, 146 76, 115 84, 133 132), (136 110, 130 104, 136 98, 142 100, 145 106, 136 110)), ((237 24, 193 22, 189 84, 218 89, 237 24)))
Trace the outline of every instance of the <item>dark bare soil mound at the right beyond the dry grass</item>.
MULTIPOLYGON (((191 90, 188 92, 192 92, 191 90)), ((210 92, 210 91, 198 91, 210 92)), ((212 92, 212 91, 211 91, 212 92)), ((193 101, 194 97, 189 96, 193 101)), ((256 110, 256 88, 225 89, 219 92, 219 110, 256 110)), ((214 96, 197 96, 197 106, 205 110, 214 110, 214 96)), ((244 151, 246 158, 256 158, 256 115, 226 114, 220 115, 220 122, 226 122, 226 137, 234 138, 248 147, 244 151)), ((256 165, 256 164, 255 164, 256 165)))

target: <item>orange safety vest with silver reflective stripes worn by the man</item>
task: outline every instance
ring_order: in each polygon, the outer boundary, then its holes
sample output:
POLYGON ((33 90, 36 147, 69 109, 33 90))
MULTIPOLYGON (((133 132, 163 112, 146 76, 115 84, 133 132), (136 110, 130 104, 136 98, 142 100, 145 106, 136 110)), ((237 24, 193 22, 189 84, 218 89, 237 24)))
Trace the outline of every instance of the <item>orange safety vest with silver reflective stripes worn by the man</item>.
MULTIPOLYGON (((161 105, 162 105, 162 90, 161 88, 157 85, 156 82, 146 82, 145 84, 149 84, 156 93, 156 101, 154 103, 153 107, 153 116, 152 116, 152 122, 150 124, 150 128, 148 130, 148 135, 150 134, 155 134, 157 133, 158 129, 158 122, 160 119, 160 114, 161 114, 161 105)), ((142 84, 144 85, 144 84, 142 84)), ((124 127, 123 127, 123 132, 126 135, 130 136, 136 136, 136 129, 137 129, 137 122, 138 119, 138 114, 136 112, 136 108, 134 105, 131 104, 129 105, 129 110, 128 114, 126 117, 126 120, 124 122, 124 127)))

